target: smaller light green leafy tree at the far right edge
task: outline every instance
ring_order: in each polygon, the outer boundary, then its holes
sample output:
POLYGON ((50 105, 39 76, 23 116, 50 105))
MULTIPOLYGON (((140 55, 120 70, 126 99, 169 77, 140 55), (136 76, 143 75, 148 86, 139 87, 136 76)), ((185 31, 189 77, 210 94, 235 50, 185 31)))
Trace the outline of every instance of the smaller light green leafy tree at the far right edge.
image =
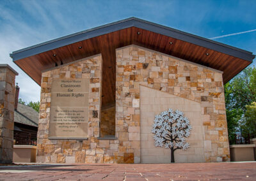
POLYGON ((241 132, 246 140, 256 136, 256 102, 246 106, 244 118, 241 120, 241 132))

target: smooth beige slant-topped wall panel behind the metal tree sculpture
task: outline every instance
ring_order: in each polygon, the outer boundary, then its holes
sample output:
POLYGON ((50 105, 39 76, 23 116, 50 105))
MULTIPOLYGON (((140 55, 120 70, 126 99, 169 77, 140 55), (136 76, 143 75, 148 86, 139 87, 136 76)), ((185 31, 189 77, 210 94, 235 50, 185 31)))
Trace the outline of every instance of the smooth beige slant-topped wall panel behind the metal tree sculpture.
POLYGON ((155 115, 169 108, 184 112, 192 126, 191 134, 186 138, 190 147, 184 151, 175 150, 175 163, 204 162, 204 127, 200 103, 145 86, 140 86, 140 94, 141 163, 170 163, 170 149, 155 147, 154 134, 151 133, 155 115))

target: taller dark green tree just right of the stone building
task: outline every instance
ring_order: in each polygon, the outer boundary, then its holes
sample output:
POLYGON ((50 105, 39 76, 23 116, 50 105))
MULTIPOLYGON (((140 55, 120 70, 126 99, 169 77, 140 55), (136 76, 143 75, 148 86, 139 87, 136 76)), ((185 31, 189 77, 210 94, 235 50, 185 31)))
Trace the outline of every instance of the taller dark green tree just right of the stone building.
POLYGON ((246 105, 256 101, 256 68, 246 68, 225 84, 225 104, 228 122, 228 137, 234 143, 235 133, 240 127, 246 105))

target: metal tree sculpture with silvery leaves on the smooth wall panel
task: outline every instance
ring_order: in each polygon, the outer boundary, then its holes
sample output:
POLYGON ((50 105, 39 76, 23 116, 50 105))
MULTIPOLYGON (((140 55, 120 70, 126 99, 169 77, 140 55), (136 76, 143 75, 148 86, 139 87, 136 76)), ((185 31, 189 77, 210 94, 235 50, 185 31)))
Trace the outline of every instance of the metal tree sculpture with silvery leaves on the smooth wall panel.
POLYGON ((156 115, 154 119, 152 133, 156 147, 165 147, 171 149, 171 162, 174 163, 174 151, 177 149, 186 150, 189 143, 186 143, 185 137, 188 138, 192 127, 189 120, 184 117, 184 113, 172 109, 156 115))

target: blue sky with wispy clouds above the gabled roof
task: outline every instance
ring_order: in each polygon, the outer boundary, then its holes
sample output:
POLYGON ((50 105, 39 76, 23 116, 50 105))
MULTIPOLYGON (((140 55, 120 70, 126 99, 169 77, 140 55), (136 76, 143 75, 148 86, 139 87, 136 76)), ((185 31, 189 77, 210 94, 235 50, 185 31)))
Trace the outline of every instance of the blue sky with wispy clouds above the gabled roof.
MULTIPOLYGON (((256 1, 0 1, 0 63, 19 72, 20 98, 38 101, 40 87, 13 64, 20 48, 129 17, 138 17, 256 54, 256 1)), ((253 62, 255 65, 255 62, 253 62)))

